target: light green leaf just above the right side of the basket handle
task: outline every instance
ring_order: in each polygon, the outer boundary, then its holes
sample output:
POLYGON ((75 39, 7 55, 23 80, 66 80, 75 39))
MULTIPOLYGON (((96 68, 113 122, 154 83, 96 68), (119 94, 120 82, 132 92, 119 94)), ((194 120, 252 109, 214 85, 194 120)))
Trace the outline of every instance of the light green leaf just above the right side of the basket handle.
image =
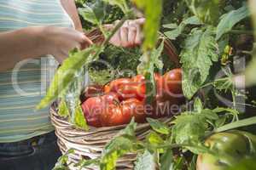
POLYGON ((188 19, 186 20, 183 20, 179 26, 177 25, 167 25, 166 27, 167 28, 174 28, 175 30, 172 30, 172 31, 166 31, 165 32, 165 35, 166 37, 168 37, 169 39, 172 39, 172 40, 175 40, 177 37, 179 37, 183 30, 185 29, 186 26, 188 25, 201 25, 201 21, 198 20, 198 18, 196 16, 192 16, 192 17, 189 17, 188 19), (176 26, 176 27, 174 27, 176 26))

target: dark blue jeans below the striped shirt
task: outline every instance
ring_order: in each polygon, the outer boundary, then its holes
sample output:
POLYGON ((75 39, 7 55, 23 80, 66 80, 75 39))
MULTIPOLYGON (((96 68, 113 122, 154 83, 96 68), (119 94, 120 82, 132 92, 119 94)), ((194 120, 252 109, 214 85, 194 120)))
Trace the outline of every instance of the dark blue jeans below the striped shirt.
POLYGON ((61 156, 55 133, 25 141, 0 144, 0 169, 50 170, 61 156))

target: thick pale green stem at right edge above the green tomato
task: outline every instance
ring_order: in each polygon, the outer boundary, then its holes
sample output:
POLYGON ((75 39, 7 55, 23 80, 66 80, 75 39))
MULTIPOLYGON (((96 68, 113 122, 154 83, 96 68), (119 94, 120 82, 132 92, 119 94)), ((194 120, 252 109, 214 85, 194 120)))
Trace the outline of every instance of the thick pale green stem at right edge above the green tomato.
POLYGON ((237 122, 231 122, 229 124, 224 125, 223 127, 218 127, 215 132, 216 133, 220 133, 220 132, 224 132, 230 129, 234 129, 237 127, 246 127, 249 125, 253 125, 256 124, 256 116, 247 118, 247 119, 243 119, 241 121, 237 121, 237 122))

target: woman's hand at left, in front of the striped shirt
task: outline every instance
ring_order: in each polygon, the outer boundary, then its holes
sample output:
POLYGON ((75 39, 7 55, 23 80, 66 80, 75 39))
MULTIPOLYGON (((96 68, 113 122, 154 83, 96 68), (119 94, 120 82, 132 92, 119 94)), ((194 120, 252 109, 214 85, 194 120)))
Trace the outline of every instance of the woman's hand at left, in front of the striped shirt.
POLYGON ((38 36, 45 53, 54 55, 60 63, 73 48, 81 48, 81 44, 92 44, 83 32, 71 28, 42 27, 38 36))

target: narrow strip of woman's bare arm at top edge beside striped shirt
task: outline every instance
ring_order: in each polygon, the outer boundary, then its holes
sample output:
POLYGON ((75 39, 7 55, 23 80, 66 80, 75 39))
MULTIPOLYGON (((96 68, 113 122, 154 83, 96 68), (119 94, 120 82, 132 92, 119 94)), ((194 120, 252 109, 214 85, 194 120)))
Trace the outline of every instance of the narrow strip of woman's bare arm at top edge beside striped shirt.
POLYGON ((79 19, 78 10, 76 8, 74 0, 61 0, 61 4, 63 8, 65 8, 65 10, 67 11, 67 14, 73 20, 75 29, 77 31, 83 31, 81 20, 79 19))

